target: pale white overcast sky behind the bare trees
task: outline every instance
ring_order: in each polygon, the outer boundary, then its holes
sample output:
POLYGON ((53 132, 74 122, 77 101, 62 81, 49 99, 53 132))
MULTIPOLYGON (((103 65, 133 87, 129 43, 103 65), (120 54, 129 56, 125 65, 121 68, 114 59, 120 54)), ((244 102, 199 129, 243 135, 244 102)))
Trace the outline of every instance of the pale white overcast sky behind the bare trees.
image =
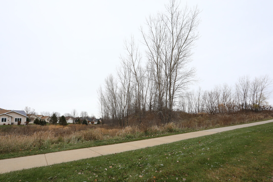
MULTIPOLYGON (((144 51, 140 27, 164 4, 0 1, 0 108, 61 114, 76 109, 99 117, 97 89, 115 74, 124 39, 133 35, 144 51)), ((273 1, 180 2, 185 5, 201 10, 191 62, 200 82, 193 88, 234 85, 244 75, 273 78, 273 1)))

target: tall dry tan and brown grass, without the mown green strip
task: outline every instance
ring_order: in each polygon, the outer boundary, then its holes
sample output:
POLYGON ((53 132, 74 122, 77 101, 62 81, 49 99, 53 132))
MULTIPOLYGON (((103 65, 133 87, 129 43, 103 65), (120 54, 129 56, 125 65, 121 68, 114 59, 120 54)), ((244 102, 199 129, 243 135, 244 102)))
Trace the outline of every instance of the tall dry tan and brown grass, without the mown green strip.
POLYGON ((174 122, 156 125, 155 121, 142 122, 141 125, 111 127, 107 125, 29 125, 0 126, 0 153, 19 150, 29 150, 40 147, 56 147, 76 144, 77 142, 125 137, 141 137, 161 133, 182 132, 186 129, 206 129, 215 126, 241 124, 273 118, 273 112, 264 113, 234 113, 209 115, 179 114, 174 122), (154 123, 154 124, 151 124, 154 123))

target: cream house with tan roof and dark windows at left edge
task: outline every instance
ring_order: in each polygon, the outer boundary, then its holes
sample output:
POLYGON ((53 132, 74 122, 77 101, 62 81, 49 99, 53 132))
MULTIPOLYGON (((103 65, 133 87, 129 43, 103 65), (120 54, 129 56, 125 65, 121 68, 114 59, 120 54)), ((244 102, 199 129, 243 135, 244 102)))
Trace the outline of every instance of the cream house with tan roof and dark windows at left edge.
POLYGON ((0 125, 18 124, 18 121, 21 121, 21 124, 25 124, 26 118, 28 117, 25 111, 6 110, 0 108, 0 125))

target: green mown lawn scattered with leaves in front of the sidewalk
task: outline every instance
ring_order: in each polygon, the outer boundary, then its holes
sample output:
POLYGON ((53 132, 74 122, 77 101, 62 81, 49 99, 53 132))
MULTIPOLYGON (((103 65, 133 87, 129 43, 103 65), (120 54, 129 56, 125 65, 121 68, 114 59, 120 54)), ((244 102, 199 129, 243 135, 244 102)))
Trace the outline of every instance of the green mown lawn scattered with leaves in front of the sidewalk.
POLYGON ((25 169, 0 181, 272 181, 273 123, 25 169), (107 169, 107 170, 106 170, 107 169))

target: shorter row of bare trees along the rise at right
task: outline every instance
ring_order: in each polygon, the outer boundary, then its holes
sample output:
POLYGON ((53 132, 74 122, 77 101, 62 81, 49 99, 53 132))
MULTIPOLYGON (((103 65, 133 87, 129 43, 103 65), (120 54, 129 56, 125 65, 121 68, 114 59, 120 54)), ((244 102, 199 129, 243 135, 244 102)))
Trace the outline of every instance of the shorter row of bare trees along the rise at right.
POLYGON ((180 110, 188 113, 230 113, 242 110, 261 111, 272 109, 267 102, 272 90, 268 75, 239 77, 234 86, 217 85, 212 90, 188 92, 180 98, 180 110))

